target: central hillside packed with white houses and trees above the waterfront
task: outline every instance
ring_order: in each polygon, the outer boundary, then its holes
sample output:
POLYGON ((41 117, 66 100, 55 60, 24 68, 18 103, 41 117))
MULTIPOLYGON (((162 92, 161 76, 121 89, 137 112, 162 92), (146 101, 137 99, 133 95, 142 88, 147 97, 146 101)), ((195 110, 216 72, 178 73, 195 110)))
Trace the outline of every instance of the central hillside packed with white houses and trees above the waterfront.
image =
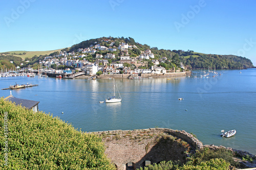
POLYGON ((184 65, 172 63, 172 52, 155 55, 155 48, 136 43, 132 38, 103 37, 83 41, 53 53, 39 63, 46 68, 74 68, 87 75, 164 74, 185 71, 184 65), (168 65, 166 64, 168 63, 168 65))

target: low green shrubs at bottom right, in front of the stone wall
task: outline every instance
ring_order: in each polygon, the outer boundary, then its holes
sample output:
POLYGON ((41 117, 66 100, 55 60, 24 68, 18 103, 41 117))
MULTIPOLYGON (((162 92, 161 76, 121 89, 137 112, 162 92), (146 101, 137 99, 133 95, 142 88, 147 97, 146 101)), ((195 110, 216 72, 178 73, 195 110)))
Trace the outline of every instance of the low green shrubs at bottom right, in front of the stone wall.
MULTIPOLYGON (((229 165, 236 165, 232 159, 232 154, 226 149, 209 150, 208 148, 198 151, 188 158, 184 165, 174 163, 173 161, 162 161, 159 164, 144 167, 145 170, 188 170, 188 169, 211 169, 226 170, 229 165)), ((141 167, 140 170, 143 168, 141 167)))

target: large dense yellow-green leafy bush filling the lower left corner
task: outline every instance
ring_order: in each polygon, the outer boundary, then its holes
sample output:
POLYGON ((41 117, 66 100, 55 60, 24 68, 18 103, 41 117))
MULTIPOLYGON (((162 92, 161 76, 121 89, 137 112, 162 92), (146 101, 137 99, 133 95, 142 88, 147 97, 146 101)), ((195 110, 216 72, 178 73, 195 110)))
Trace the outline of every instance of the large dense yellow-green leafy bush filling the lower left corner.
POLYGON ((0 119, 0 169, 115 169, 97 135, 81 133, 58 117, 0 99, 0 119), (8 166, 4 165, 6 112, 8 166))

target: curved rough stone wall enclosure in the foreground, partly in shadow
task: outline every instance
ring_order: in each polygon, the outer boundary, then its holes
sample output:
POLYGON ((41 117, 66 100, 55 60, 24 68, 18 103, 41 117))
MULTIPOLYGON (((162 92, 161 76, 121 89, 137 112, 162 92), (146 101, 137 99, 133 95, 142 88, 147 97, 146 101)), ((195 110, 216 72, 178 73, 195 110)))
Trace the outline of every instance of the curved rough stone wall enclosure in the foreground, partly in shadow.
POLYGON ((165 128, 91 133, 102 136, 106 147, 105 154, 118 169, 126 169, 129 162, 132 162, 134 168, 143 166, 145 161, 153 164, 180 160, 184 163, 186 153, 203 148, 202 142, 193 135, 165 128))

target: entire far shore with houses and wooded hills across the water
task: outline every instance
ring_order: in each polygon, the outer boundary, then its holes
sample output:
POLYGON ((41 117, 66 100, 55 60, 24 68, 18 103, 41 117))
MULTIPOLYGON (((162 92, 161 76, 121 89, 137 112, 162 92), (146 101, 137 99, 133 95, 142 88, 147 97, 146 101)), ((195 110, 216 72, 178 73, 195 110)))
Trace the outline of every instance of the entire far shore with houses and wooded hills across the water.
POLYGON ((165 74, 188 69, 245 69, 252 62, 233 55, 212 55, 183 50, 163 50, 135 42, 131 37, 101 37, 82 41, 49 55, 18 57, 26 52, 0 54, 3 70, 19 68, 47 69, 57 74, 65 69, 87 75, 165 74))

